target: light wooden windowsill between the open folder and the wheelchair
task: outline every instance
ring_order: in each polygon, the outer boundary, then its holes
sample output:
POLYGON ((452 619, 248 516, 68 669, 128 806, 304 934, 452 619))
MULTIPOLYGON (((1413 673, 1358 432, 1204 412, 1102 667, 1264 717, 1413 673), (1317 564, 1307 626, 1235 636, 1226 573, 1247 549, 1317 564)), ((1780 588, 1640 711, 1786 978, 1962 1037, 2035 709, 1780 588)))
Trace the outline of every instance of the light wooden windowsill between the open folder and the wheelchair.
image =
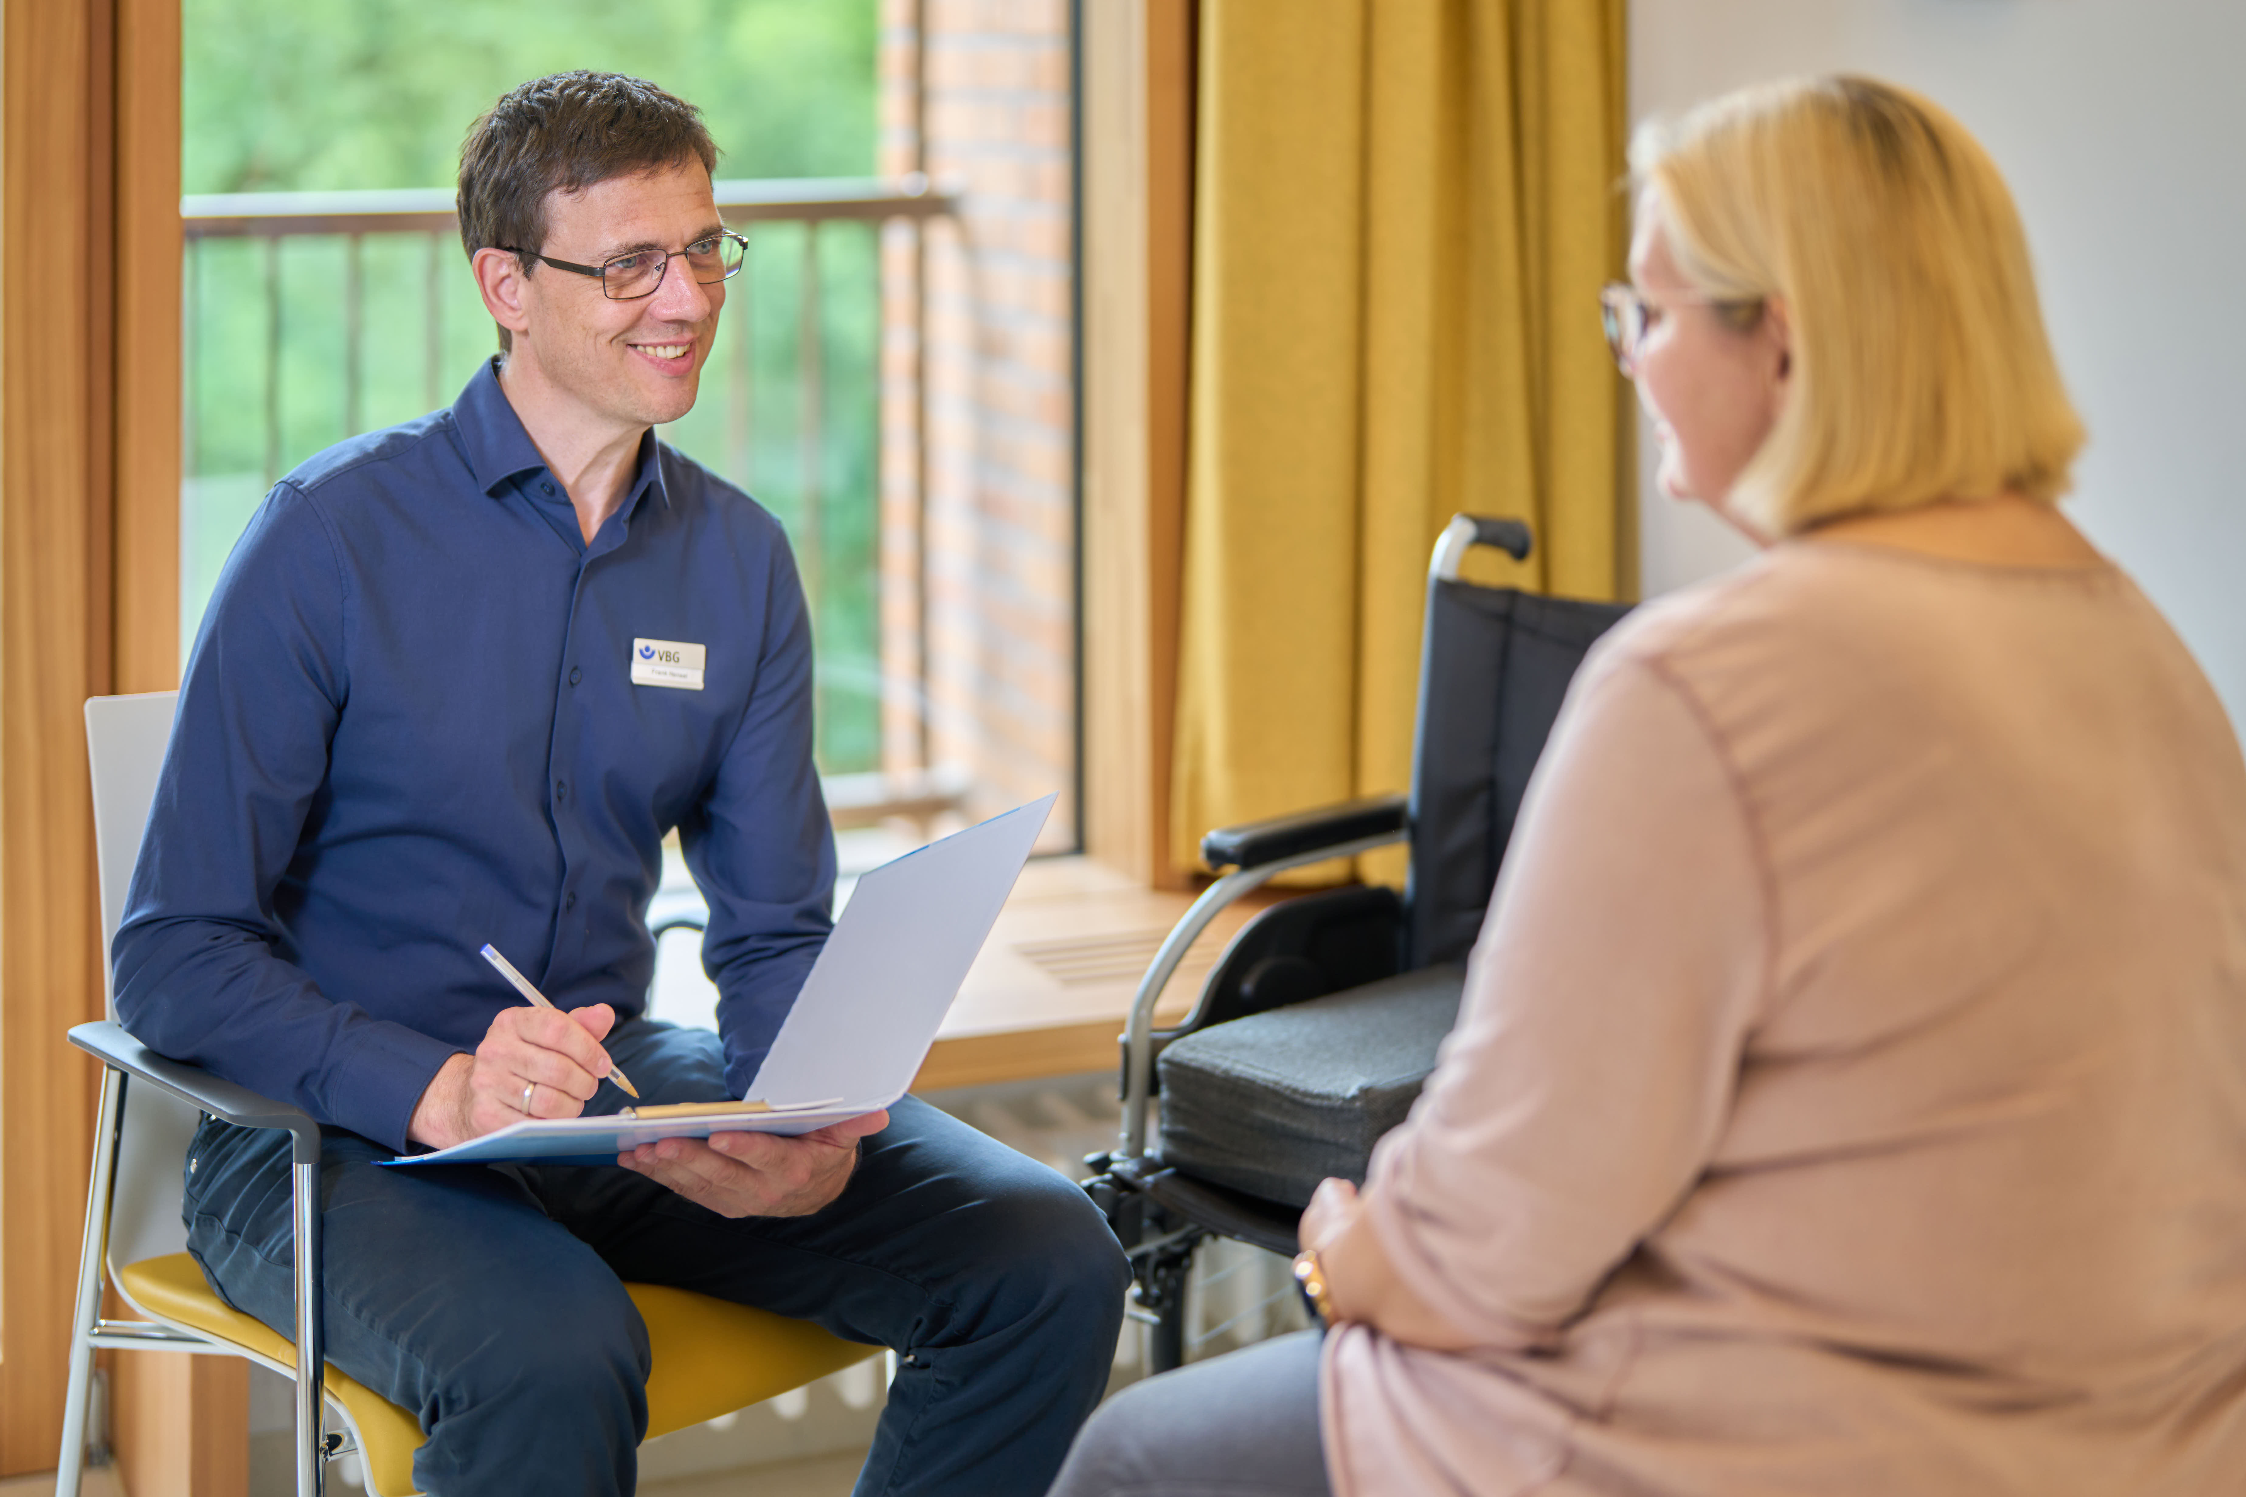
MULTIPOLYGON (((1193 898, 1145 889, 1080 855, 1031 860, 914 1091, 1114 1066, 1139 976, 1193 898)), ((1226 907, 1170 979, 1157 1019, 1181 1019, 1224 945, 1282 898, 1285 891, 1256 889, 1226 907)))

